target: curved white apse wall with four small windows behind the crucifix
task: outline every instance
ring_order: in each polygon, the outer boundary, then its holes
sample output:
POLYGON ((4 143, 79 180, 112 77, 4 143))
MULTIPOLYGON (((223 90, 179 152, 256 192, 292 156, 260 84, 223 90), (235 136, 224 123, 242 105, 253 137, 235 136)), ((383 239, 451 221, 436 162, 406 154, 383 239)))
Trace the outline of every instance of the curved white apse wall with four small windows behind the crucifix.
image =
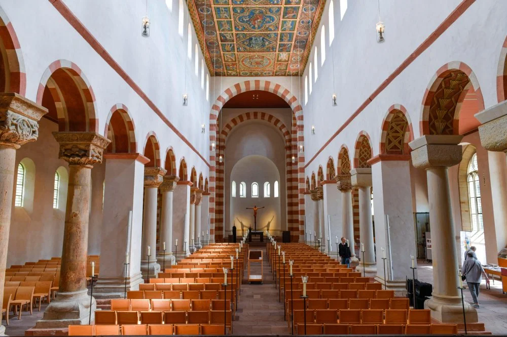
MULTIPOLYGON (((280 212, 280 196, 274 197, 274 182, 280 183, 280 173, 275 163, 270 159, 259 156, 246 156, 236 162, 231 172, 231 181, 236 182, 236 197, 230 198, 230 219, 232 223, 236 223, 237 235, 241 236, 246 233, 249 226, 253 229, 253 210, 246 207, 265 207, 257 211, 257 230, 265 231, 266 229, 272 235, 281 235, 281 229, 285 229, 285 224, 281 222, 280 212), (246 197, 239 196, 239 184, 246 183, 246 197), (259 197, 251 197, 251 184, 257 182, 259 184, 259 197), (264 197, 264 183, 271 184, 270 197, 264 197)), ((228 226, 227 231, 232 234, 232 225, 228 226)))

